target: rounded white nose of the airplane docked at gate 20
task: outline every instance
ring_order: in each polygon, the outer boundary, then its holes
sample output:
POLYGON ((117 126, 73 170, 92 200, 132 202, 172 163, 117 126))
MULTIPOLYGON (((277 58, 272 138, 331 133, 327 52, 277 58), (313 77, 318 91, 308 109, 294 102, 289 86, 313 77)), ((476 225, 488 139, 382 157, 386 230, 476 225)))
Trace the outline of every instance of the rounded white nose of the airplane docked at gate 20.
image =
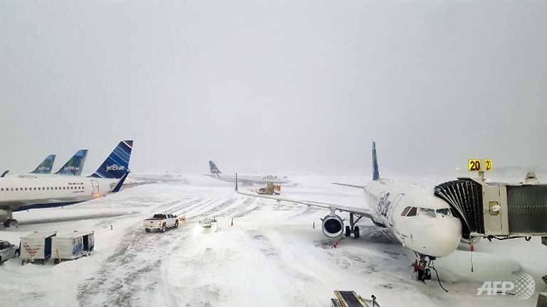
POLYGON ((422 231, 424 248, 422 254, 445 257, 457 249, 462 239, 462 222, 457 218, 439 220, 422 231))

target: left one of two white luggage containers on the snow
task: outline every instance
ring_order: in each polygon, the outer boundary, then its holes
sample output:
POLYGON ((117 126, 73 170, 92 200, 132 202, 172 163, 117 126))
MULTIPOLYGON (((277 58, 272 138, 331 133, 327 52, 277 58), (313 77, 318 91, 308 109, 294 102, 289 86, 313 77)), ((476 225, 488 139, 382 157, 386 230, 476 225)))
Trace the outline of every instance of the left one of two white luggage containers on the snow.
POLYGON ((19 251, 21 264, 26 262, 39 262, 46 264, 51 257, 51 240, 56 232, 33 232, 21 237, 19 251))

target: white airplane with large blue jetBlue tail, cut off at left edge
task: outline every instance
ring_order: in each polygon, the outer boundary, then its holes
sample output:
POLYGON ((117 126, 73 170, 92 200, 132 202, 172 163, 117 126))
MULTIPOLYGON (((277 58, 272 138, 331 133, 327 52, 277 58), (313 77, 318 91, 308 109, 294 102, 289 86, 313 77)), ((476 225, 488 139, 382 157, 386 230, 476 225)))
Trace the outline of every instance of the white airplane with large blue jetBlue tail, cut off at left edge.
POLYGON ((4 227, 17 227, 13 212, 73 205, 117 193, 130 172, 132 147, 132 140, 120 141, 97 171, 87 177, 0 178, 0 222, 4 227))

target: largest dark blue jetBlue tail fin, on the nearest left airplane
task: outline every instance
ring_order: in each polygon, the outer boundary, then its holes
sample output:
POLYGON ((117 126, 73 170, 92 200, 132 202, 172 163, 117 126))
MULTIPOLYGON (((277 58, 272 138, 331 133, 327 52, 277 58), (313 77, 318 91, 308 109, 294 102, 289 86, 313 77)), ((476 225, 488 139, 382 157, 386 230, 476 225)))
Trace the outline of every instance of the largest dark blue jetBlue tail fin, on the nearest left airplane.
POLYGON ((131 150, 133 149, 133 141, 120 141, 112 154, 106 158, 103 164, 91 175, 95 178, 111 178, 120 179, 129 171, 129 159, 131 158, 131 150))

